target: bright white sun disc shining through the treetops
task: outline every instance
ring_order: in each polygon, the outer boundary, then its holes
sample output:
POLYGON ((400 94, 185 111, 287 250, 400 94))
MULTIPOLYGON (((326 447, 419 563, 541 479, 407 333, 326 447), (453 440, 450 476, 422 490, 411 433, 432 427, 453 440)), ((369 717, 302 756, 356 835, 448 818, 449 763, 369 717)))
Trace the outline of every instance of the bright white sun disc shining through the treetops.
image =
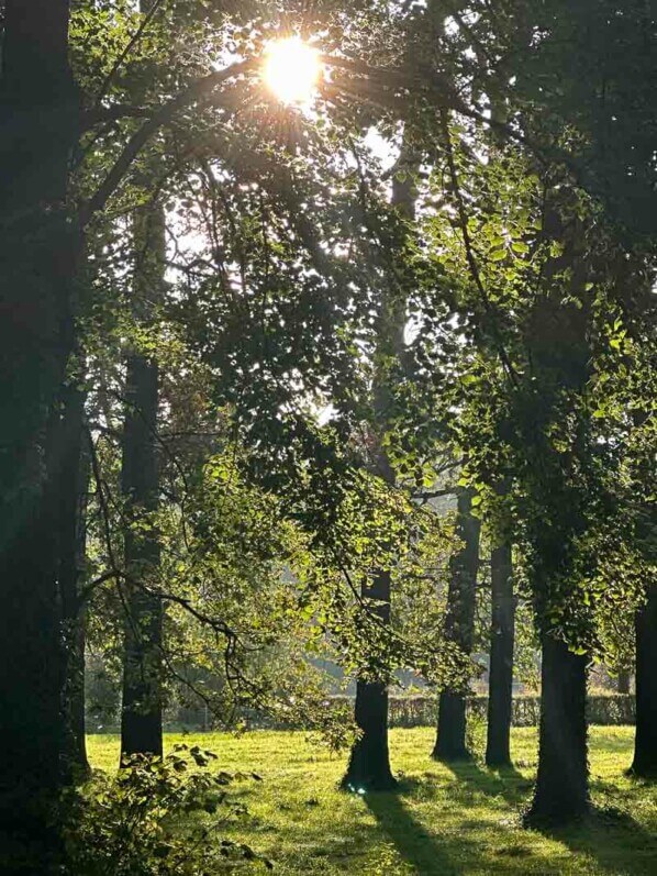
POLYGON ((298 36, 269 43, 263 78, 282 103, 308 103, 320 76, 320 53, 298 36))

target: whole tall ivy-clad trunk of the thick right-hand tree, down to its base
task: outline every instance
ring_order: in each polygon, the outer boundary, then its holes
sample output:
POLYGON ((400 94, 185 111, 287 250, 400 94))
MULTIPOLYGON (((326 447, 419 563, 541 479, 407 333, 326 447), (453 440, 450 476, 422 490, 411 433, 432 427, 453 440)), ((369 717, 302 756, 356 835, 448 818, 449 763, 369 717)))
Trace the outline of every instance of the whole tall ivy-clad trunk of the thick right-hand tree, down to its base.
MULTIPOLYGON (((590 520, 589 486, 598 487, 577 473, 587 470, 593 437, 590 421, 580 418, 569 454, 563 454, 547 439, 553 424, 564 422, 567 410, 577 410, 591 378, 591 299, 586 295, 592 277, 586 257, 586 225, 566 219, 559 195, 546 198, 542 236, 558 242, 561 253, 545 266, 541 291, 526 323, 525 343, 536 387, 532 414, 523 426, 527 448, 521 480, 541 508, 530 514, 532 543, 532 589, 535 617, 543 648, 538 772, 534 798, 526 816, 528 824, 577 822, 589 811, 587 740, 587 655, 572 653, 553 635, 552 617, 560 612, 560 624, 583 641, 591 639, 592 613, 582 617, 568 605, 570 579, 577 577, 579 540, 586 537, 590 520), (582 302, 565 306, 565 292, 582 302), (560 393, 568 388, 571 401, 563 407, 560 393), (588 628, 588 629, 587 629, 588 628)), ((577 418, 576 418, 577 419, 577 418)))

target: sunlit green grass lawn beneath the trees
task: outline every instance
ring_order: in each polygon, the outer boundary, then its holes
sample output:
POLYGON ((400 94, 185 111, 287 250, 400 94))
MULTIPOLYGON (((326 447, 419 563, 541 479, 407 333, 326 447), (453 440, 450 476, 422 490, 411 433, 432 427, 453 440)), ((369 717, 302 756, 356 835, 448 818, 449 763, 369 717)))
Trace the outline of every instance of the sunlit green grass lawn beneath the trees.
MULTIPOLYGON (((190 734, 219 767, 256 770, 232 795, 248 813, 223 834, 244 839, 280 876, 449 876, 449 874, 627 874, 657 876, 657 787, 631 781, 633 728, 591 729, 591 784, 597 813, 587 825, 555 834, 525 831, 520 812, 536 768, 536 731, 513 732, 515 768, 481 763, 446 766, 427 756, 430 729, 392 730, 399 794, 359 797, 336 789, 345 756, 331 755, 301 732, 190 734)), ((168 735, 166 744, 182 741, 168 735)), ((114 768, 116 736, 90 736, 94 767, 114 768)))

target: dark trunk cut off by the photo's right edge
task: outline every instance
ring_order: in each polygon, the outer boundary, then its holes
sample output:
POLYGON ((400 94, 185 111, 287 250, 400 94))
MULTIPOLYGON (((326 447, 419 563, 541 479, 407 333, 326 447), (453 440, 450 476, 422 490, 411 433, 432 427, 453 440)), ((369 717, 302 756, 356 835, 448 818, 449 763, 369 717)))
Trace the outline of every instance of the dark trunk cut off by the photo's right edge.
POLYGON ((636 733, 632 773, 657 778, 657 585, 636 613, 636 733))

